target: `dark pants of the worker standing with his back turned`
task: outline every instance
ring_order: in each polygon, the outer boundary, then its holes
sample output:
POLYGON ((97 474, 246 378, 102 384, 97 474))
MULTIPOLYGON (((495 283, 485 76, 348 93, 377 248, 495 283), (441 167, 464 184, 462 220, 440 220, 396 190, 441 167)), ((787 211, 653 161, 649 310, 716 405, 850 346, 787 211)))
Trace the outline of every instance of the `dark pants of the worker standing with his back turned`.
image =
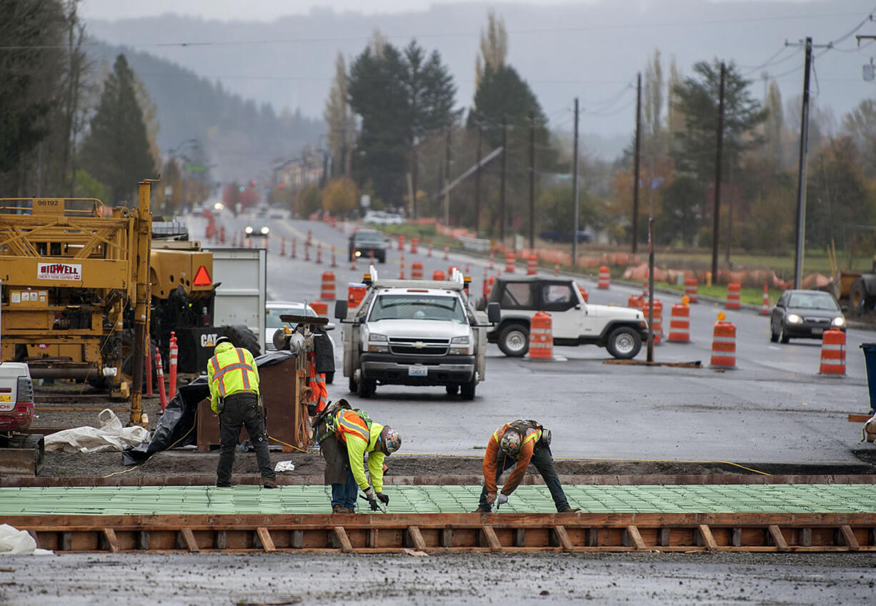
POLYGON ((265 419, 258 406, 258 396, 254 393, 234 393, 225 398, 223 412, 219 413, 219 466, 216 468, 216 485, 230 486, 231 468, 234 467, 234 451, 240 429, 246 427, 252 446, 256 448, 258 471, 263 480, 275 477, 268 455, 268 434, 265 432, 265 419))

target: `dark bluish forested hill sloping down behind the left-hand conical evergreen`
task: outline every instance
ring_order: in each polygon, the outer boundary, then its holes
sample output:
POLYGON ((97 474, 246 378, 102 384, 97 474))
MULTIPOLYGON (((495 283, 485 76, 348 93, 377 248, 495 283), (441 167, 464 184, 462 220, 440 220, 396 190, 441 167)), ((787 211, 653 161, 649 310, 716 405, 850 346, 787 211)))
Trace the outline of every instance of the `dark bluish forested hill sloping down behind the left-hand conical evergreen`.
POLYGON ((95 73, 124 53, 158 109, 162 155, 189 138, 204 145, 214 180, 262 179, 277 159, 300 154, 325 132, 321 120, 300 113, 277 115, 271 105, 231 94, 221 84, 199 77, 152 54, 95 42, 88 46, 95 73), (259 175, 261 173, 261 175, 259 175))

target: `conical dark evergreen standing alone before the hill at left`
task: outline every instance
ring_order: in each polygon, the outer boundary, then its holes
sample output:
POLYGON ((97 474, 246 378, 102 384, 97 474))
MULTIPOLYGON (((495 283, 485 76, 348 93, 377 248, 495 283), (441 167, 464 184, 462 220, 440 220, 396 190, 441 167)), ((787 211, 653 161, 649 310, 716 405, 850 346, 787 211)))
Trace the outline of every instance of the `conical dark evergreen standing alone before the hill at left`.
MULTIPOLYGON (((118 55, 82 143, 81 164, 109 189, 110 203, 136 201, 137 184, 155 176, 134 73, 118 55)), ((131 206, 134 204, 131 203, 131 206)))

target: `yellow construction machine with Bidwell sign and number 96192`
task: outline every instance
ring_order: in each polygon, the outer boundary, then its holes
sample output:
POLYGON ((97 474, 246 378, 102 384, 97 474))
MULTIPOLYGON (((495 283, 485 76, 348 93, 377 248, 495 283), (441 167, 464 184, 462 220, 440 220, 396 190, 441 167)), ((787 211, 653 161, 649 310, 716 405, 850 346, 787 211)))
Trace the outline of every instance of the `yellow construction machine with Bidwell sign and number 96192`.
POLYGON ((138 208, 109 212, 93 198, 0 199, 0 361, 27 363, 33 378, 103 384, 113 398, 131 398, 135 424, 150 322, 151 186, 140 183, 138 208))

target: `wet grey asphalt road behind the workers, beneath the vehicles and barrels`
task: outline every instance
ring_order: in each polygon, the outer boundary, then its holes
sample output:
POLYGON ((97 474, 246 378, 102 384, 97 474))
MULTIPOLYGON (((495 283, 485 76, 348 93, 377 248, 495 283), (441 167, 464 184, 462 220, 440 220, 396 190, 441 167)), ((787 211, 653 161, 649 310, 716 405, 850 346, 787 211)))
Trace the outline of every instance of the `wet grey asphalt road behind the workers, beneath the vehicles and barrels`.
MULTIPOLYGON (((243 233, 245 218, 225 216, 221 224, 243 233)), ((205 222, 192 220, 193 237, 203 236, 205 222)), ((268 255, 268 298, 314 300, 320 293, 323 271, 336 275, 338 296, 346 284, 358 281, 357 271, 346 260, 347 239, 339 224, 332 229, 322 222, 274 220, 268 255), (302 243, 307 230, 314 244, 322 243, 322 264, 303 260, 302 243), (286 238, 286 257, 280 239, 286 238), (290 257, 297 239, 297 258, 290 257), (330 247, 336 246, 336 268, 329 267, 330 247)), ((349 227, 347 229, 350 229, 349 227)), ((474 292, 488 259, 443 250, 427 257, 406 252, 406 275, 418 260, 424 273, 447 270, 450 264, 470 265, 474 292)), ((498 262, 497 262, 498 267, 498 262)), ((518 268, 518 273, 523 268, 518 268)), ((392 250, 380 276, 398 277, 399 251, 392 250)), ((216 279, 220 279, 217 277, 216 279)), ((580 280, 590 301, 625 305, 638 287, 612 285, 598 290, 593 277, 580 280)), ((659 293, 664 309, 680 300, 659 293)), ((737 326, 737 369, 709 368, 712 326, 722 307, 714 303, 691 306, 691 342, 664 342, 654 349, 658 362, 702 361, 703 368, 680 369, 606 364, 610 356, 595 346, 555 348, 562 361, 531 362, 508 358, 495 345, 488 347, 487 372, 477 387, 477 398, 463 402, 448 397, 442 387, 378 386, 373 398, 350 394, 343 373, 329 385, 329 398, 348 398, 364 407, 372 418, 392 424, 404 436, 409 454, 471 455, 483 447, 490 433, 515 418, 538 419, 554 433, 557 457, 588 459, 645 459, 675 461, 774 462, 789 464, 856 463, 853 450, 860 447, 860 426, 849 423, 849 412, 869 410, 864 356, 858 343, 876 341, 876 335, 850 329, 845 377, 820 377, 820 342, 771 343, 768 321, 756 311, 728 311, 737 326)), ((329 314, 332 310, 329 310, 329 314)), ((668 326, 668 322, 667 322, 668 326)), ((342 348, 341 328, 333 333, 338 367, 342 348)), ((645 351, 637 359, 645 359, 645 351)))

